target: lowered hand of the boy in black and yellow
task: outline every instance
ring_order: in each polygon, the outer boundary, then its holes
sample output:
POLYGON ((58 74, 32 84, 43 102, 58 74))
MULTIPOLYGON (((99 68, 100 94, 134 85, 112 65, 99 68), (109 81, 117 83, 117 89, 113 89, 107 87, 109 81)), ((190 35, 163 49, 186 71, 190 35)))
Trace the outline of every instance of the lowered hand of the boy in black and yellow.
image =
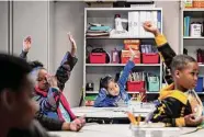
POLYGON ((194 114, 186 115, 184 117, 185 126, 199 126, 203 122, 203 117, 195 117, 194 114))

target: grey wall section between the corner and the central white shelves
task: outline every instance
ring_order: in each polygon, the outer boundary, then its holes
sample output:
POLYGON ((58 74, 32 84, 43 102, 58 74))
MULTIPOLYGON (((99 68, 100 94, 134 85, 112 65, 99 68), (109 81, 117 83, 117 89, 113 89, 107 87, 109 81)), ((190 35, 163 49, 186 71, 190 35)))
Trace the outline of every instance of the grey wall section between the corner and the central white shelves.
POLYGON ((70 32, 77 43, 78 62, 75 66, 64 93, 71 106, 78 106, 82 89, 83 73, 83 2, 54 2, 50 5, 52 22, 50 71, 55 72, 64 55, 71 49, 67 33, 70 32), (78 12, 76 12, 78 11, 78 12))

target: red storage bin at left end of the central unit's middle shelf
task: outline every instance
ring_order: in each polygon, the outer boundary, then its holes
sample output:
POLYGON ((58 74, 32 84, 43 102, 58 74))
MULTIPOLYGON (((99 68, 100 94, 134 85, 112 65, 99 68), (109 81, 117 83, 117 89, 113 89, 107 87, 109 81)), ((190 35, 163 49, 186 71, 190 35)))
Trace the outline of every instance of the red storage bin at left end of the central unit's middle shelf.
POLYGON ((105 53, 91 53, 90 64, 105 64, 106 54, 105 53))

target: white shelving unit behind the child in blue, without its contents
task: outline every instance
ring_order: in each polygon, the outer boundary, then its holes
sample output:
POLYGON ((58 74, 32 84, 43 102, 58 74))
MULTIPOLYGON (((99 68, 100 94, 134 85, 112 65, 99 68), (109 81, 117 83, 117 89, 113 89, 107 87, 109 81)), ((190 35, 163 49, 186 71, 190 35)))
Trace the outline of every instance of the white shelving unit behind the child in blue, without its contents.
MULTIPOLYGON (((93 95, 99 93, 100 78, 111 75, 115 77, 116 72, 123 70, 125 64, 87 64, 86 62, 86 49, 88 45, 94 46, 94 48, 103 47, 110 53, 115 47, 117 49, 123 48, 124 39, 140 39, 141 42, 155 43, 155 37, 151 36, 129 36, 129 37, 86 37, 87 27, 90 22, 100 23, 114 27, 114 15, 121 14, 122 18, 127 19, 129 11, 159 11, 162 16, 161 8, 86 8, 84 9, 84 50, 83 50, 83 88, 88 82, 94 83, 93 91, 86 91, 83 96, 93 95)), ((161 33, 162 33, 162 18, 161 18, 161 33)), ((138 64, 135 69, 145 70, 148 72, 157 73, 160 79, 160 87, 162 85, 162 64, 138 64)), ((128 92, 129 94, 137 92, 128 92)), ((148 94, 158 94, 158 92, 147 92, 148 94)))

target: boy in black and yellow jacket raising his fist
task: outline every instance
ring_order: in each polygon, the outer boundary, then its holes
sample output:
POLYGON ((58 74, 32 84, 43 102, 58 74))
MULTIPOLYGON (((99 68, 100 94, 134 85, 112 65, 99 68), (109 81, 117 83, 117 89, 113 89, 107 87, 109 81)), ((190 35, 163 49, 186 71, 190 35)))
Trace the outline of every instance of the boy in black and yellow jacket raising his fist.
POLYGON ((196 60, 188 55, 175 56, 165 36, 150 22, 146 22, 144 28, 156 36, 158 49, 166 64, 170 66, 173 81, 160 91, 158 104, 150 121, 162 122, 166 126, 200 125, 203 121, 203 106, 194 92, 199 75, 196 60))

